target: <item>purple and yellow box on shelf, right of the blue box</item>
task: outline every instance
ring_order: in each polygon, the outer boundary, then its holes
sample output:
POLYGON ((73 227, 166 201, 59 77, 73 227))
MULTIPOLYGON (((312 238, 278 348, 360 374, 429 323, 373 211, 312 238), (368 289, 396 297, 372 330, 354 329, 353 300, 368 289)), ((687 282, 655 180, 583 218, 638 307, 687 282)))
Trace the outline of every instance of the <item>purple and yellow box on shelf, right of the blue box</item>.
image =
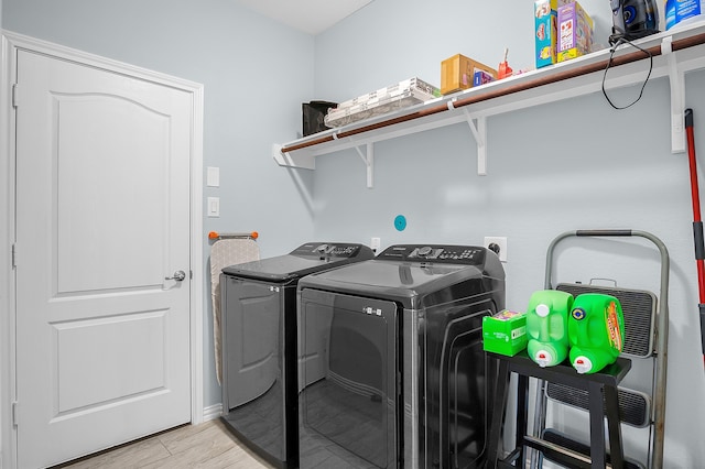
POLYGON ((558 62, 570 61, 593 50, 593 19, 576 1, 558 7, 558 62))

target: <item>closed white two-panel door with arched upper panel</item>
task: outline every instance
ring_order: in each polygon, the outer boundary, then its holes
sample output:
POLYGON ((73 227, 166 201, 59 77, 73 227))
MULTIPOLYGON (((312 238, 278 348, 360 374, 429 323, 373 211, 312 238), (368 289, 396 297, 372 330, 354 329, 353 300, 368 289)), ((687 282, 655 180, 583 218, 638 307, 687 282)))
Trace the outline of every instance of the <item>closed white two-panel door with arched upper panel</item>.
POLYGON ((191 421, 193 103, 22 50, 17 70, 18 466, 35 468, 191 421))

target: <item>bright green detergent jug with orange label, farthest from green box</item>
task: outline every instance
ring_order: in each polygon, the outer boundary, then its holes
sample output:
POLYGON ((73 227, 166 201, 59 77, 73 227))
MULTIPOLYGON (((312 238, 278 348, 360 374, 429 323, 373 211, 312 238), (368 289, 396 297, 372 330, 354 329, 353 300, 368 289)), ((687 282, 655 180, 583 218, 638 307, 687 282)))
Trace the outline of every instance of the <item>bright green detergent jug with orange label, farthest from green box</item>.
POLYGON ((625 343, 625 316, 619 299, 584 293, 568 318, 571 364, 578 373, 596 373, 617 360, 625 343))

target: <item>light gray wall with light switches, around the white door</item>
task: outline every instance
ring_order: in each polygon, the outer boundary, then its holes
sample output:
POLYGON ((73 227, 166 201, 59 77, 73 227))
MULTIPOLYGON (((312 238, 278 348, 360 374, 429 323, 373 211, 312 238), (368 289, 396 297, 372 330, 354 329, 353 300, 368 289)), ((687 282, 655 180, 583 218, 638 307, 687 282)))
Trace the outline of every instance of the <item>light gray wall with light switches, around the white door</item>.
MULTIPOLYGON (((296 138, 301 102, 314 99, 314 39, 223 0, 4 0, 6 30, 75 47, 205 86, 204 166, 220 167, 220 218, 206 234, 260 232, 262 257, 311 240, 311 174, 271 157, 273 135, 296 138)), ((205 175, 204 175, 205 178, 205 175)), ((205 208, 204 208, 205 214, 205 208)), ((209 266, 204 265, 205 405, 220 403, 213 359, 209 266)))

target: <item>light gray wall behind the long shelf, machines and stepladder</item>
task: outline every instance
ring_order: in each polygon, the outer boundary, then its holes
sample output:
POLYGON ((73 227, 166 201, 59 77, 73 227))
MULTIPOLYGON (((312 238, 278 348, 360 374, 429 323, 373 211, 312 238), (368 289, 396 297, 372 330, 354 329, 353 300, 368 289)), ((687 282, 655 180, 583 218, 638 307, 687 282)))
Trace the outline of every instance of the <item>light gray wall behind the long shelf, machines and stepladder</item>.
MULTIPOLYGON (((596 42, 611 26, 609 2, 582 4, 596 20, 596 42)), ((316 91, 345 100, 419 76, 440 84, 441 61, 462 53, 497 65, 509 47, 512 68, 533 62, 533 2, 376 0, 316 37, 316 91), (375 34, 367 32, 373 31, 375 34), (380 40, 381 39, 381 40, 380 40)), ((627 103, 639 88, 615 90, 627 103)), ((705 154, 705 70, 686 76, 697 152, 705 154), (698 117, 699 116, 699 117, 698 117)), ((375 188, 354 150, 319 156, 315 171, 315 232, 356 233, 398 242, 481 243, 508 237, 507 304, 524 310, 544 281, 546 248, 566 230, 631 228, 666 244, 672 261, 665 457, 669 468, 705 460, 705 373, 699 346, 687 157, 673 155, 668 79, 654 79, 633 107, 616 111, 601 94, 535 106, 488 119, 488 175, 476 171, 467 124, 375 145, 375 188), (397 231, 393 219, 406 216, 397 231)), ((702 165, 701 165, 702 167, 702 165)), ((659 291, 659 258, 636 240, 567 242, 556 277, 659 291)), ((628 377, 639 388, 648 370, 628 377)), ((560 428, 584 433, 571 412, 554 412, 560 428), (577 427, 577 428, 572 428, 577 427)), ((627 454, 644 459, 647 432, 627 428, 627 454)))

